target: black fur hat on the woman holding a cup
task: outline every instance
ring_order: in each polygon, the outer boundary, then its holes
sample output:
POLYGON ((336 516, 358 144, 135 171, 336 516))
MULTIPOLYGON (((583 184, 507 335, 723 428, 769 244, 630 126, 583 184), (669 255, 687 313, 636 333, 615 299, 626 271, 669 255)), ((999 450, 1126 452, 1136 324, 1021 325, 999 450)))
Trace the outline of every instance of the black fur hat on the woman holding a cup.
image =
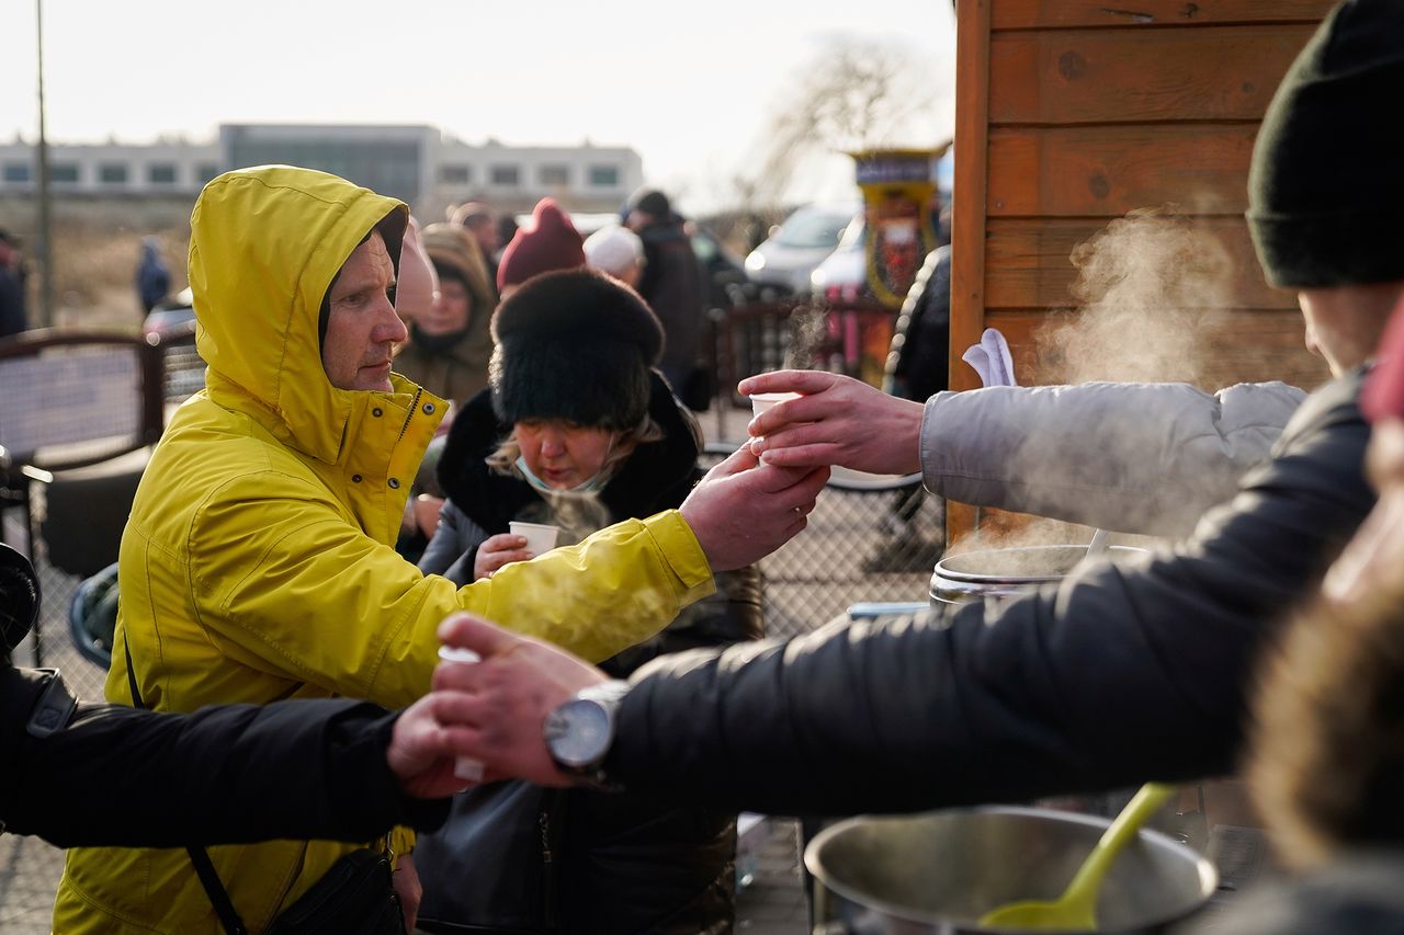
POLYGON ((489 380, 504 423, 628 430, 649 411, 663 326, 618 279, 595 270, 532 277, 497 307, 493 341, 489 380))

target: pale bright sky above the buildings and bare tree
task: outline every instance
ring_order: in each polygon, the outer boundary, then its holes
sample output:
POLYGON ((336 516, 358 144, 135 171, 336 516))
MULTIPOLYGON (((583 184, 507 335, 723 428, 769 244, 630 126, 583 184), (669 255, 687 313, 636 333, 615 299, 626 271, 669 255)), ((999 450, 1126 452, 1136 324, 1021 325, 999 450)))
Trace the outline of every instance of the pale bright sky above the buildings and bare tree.
MULTIPOLYGON (((38 135, 35 3, 7 0, 0 135, 38 135)), ((44 0, 52 143, 209 139, 222 122, 430 124, 469 143, 632 146, 706 211, 835 38, 910 56, 932 105, 892 145, 953 132, 949 0, 44 0), (385 13, 385 11, 390 13, 385 13)), ((840 194, 812 164, 796 199, 840 194)), ((849 188, 851 190, 851 188, 849 188)))

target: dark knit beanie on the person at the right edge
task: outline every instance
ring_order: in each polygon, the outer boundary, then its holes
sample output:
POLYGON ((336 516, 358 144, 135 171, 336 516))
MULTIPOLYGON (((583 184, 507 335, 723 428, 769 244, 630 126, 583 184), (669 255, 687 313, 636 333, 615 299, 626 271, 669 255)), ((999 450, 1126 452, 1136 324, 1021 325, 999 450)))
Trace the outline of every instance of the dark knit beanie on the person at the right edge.
POLYGON ((1337 4, 1278 87, 1252 150, 1248 227, 1268 282, 1404 279, 1400 101, 1404 3, 1337 4))

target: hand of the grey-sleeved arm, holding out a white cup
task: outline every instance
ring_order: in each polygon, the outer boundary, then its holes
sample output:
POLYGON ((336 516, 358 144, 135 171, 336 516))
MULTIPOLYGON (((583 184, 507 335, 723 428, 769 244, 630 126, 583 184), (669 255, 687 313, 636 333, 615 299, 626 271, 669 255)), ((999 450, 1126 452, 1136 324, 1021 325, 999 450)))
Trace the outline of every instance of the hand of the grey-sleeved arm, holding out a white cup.
POLYGON ((824 371, 775 371, 750 376, 741 393, 800 393, 751 420, 750 448, 762 465, 841 465, 875 475, 921 470, 925 407, 824 371))

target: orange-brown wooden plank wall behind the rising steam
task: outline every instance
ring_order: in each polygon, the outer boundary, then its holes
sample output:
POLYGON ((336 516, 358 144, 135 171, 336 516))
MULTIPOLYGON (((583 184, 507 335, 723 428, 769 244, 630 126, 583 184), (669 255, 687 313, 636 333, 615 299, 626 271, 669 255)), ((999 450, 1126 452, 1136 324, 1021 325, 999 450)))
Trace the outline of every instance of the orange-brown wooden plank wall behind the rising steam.
MULTIPOLYGON (((1294 296, 1269 288, 1243 212, 1262 114, 1331 0, 956 0, 952 206, 953 389, 986 327, 1025 385, 1045 323, 1075 320, 1073 248, 1127 212, 1172 211, 1231 258, 1200 380, 1286 379, 1325 366, 1303 347, 1294 296)), ((953 532, 969 511, 952 511, 953 532)))

